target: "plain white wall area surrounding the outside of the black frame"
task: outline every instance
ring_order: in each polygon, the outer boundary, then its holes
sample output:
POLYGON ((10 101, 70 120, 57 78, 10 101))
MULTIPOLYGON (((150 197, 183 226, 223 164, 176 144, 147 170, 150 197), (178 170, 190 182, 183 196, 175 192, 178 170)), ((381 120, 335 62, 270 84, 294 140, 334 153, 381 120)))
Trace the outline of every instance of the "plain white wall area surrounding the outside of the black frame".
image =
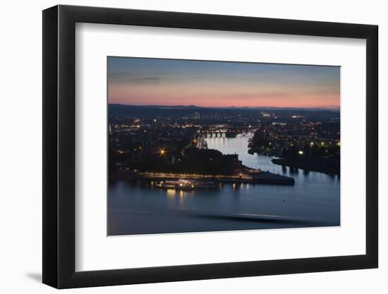
MULTIPOLYGON (((51 293, 40 284, 42 193, 42 18, 54 1, 8 1, 1 13, 1 284, 4 293, 51 293)), ((61 4, 116 6, 272 18, 328 20, 380 25, 380 101, 387 92, 388 19, 384 1, 61 1, 61 4)), ((387 178, 387 102, 380 104, 380 183, 387 178), (384 167, 382 165, 384 164, 384 167)), ((356 163, 355 163, 356 164, 356 163)), ((387 186, 380 186, 380 269, 297 274, 214 281, 68 290, 70 293, 387 293, 387 186), (385 229, 384 229, 385 228, 385 229)))

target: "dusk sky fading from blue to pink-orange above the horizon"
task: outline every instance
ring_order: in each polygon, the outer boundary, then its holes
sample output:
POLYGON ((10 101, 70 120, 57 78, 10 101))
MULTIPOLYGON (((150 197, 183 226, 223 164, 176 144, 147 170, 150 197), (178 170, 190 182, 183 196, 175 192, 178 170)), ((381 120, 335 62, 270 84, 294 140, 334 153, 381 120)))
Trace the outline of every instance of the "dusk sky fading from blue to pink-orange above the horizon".
POLYGON ((337 66, 108 57, 110 104, 339 109, 337 66))

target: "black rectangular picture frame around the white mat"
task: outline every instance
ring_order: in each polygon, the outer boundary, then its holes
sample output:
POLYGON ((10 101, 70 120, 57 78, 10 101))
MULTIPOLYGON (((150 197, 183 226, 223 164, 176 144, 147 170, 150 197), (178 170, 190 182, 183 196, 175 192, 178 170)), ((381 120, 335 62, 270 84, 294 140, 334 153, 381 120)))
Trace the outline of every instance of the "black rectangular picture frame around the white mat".
POLYGON ((43 283, 78 288, 376 268, 377 38, 377 25, 62 5, 44 10, 43 283), (75 271, 75 23, 366 39, 366 254, 75 271))

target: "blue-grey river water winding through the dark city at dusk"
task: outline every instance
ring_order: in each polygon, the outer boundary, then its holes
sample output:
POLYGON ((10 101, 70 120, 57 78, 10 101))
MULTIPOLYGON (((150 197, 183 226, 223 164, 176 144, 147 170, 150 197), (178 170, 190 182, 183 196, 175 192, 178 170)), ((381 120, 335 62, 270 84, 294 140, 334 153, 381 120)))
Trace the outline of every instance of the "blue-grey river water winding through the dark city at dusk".
POLYGON ((210 149, 237 153, 243 164, 295 178, 294 186, 220 185, 175 191, 144 183, 109 183, 109 235, 339 226, 339 177, 283 169, 248 154, 250 134, 207 138, 210 149))

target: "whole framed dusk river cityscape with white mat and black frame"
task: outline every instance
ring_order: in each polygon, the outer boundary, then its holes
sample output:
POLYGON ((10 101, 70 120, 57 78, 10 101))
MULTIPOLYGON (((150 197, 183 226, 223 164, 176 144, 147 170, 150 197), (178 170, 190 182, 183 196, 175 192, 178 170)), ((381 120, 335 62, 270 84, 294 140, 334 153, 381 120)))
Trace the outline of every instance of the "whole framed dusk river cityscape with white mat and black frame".
POLYGON ((377 26, 43 11, 43 283, 376 268, 377 26))

